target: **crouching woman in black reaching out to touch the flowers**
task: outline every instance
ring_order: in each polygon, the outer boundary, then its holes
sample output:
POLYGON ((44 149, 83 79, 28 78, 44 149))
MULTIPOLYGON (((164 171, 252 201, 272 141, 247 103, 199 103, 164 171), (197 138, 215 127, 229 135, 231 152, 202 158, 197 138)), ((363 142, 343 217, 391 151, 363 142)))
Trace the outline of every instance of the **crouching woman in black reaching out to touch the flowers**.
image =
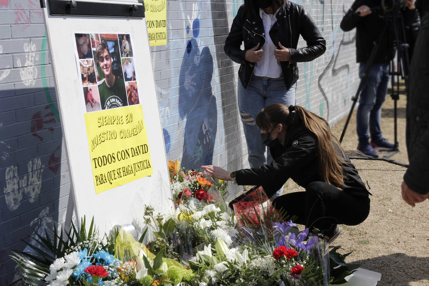
POLYGON ((268 197, 292 178, 305 192, 279 196, 272 204, 296 215, 295 223, 319 229, 328 243, 341 233, 338 224, 353 226, 368 217, 369 192, 326 120, 302 107, 275 103, 259 112, 256 124, 274 158, 270 165, 232 173, 202 168, 239 185, 262 185, 268 197))

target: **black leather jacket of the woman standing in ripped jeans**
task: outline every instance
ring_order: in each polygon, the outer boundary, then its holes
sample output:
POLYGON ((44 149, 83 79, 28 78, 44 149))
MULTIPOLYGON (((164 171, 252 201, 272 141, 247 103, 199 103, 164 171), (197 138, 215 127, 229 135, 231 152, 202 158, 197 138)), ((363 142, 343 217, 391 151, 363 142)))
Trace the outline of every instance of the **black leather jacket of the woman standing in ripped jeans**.
MULTIPOLYGON (((265 43, 263 21, 259 15, 259 8, 255 11, 256 18, 248 17, 244 5, 240 6, 234 18, 231 31, 225 41, 224 51, 233 61, 241 63, 239 78, 243 87, 247 88, 253 75, 255 63, 245 60, 246 51, 259 43, 259 49, 265 43), (244 51, 240 48, 244 42, 244 51)), ((285 1, 283 7, 275 15, 276 23, 269 31, 274 45, 280 49, 278 42, 289 48, 290 62, 281 62, 284 83, 289 89, 298 80, 297 62, 308 62, 322 55, 326 50, 326 41, 323 39, 314 21, 305 9, 285 1), (307 42, 307 47, 296 49, 299 34, 307 42)))

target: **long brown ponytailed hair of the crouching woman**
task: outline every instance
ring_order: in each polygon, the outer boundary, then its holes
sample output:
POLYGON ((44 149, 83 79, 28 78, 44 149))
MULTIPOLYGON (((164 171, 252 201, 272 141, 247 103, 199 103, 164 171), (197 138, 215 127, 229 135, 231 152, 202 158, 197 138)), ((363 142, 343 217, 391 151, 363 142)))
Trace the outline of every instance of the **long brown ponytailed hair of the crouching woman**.
POLYGON ((338 139, 332 134, 328 122, 301 106, 294 106, 294 110, 295 112, 290 112, 289 107, 281 103, 270 104, 259 111, 256 124, 264 130, 269 130, 273 126, 277 126, 278 123, 283 124, 286 130, 305 124, 305 127, 317 137, 319 172, 323 181, 342 188, 344 186, 344 173, 340 163, 344 160, 335 150, 335 145, 340 150, 341 147, 338 139))

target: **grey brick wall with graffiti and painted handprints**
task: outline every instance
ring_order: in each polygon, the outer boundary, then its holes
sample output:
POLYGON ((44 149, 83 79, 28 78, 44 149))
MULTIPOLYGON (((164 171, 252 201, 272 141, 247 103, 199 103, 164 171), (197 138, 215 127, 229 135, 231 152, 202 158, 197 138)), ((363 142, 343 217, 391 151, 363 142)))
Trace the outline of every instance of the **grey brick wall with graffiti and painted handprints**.
MULTIPOLYGON (((295 0, 327 42, 300 63, 297 104, 330 123, 347 114, 357 84, 354 32, 339 28, 350 0, 295 0)), ((224 40, 242 1, 167 2, 165 46, 151 48, 167 158, 247 166, 236 103, 237 70, 224 40)), ((300 45, 304 45, 300 42, 300 45)), ((12 249, 65 218, 70 178, 42 12, 37 0, 0 0, 0 285, 18 285, 12 249)))

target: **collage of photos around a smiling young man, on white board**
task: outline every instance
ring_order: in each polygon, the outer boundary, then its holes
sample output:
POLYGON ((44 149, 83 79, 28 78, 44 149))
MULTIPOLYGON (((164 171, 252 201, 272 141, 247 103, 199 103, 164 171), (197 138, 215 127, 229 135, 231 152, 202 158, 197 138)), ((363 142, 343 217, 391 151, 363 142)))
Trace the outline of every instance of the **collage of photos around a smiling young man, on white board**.
POLYGON ((139 104, 130 34, 74 35, 86 112, 139 104))

